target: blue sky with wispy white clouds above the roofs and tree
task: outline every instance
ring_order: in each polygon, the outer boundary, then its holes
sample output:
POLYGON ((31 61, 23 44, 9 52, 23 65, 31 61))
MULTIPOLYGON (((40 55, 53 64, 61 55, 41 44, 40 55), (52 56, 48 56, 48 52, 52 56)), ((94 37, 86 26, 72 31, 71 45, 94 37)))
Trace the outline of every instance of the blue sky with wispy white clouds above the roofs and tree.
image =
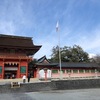
POLYGON ((58 45, 58 20, 61 47, 100 54, 100 0, 0 0, 0 34, 33 37, 35 58, 58 45))

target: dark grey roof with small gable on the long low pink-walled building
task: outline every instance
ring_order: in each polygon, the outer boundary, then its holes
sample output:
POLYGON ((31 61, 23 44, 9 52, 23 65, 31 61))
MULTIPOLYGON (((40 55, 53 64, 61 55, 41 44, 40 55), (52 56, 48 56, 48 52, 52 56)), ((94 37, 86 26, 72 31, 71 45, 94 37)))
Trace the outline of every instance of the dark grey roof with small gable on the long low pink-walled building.
MULTIPOLYGON (((59 68, 59 63, 50 63, 46 56, 41 57, 38 59, 38 62, 36 63, 36 66, 51 66, 54 68, 59 68), (48 63, 45 63, 44 61, 47 61, 48 63)), ((62 68, 100 68, 100 65, 97 63, 87 63, 87 62, 61 62, 62 68)))

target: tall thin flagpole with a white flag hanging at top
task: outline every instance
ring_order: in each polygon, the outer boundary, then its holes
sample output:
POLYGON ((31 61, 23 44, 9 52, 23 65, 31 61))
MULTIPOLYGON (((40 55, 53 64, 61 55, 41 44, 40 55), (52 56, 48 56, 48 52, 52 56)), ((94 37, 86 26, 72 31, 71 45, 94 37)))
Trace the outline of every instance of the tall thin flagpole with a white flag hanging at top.
POLYGON ((56 32, 58 32, 58 48, 59 48, 59 66, 60 66, 60 79, 62 79, 62 68, 61 68, 61 50, 60 50, 60 33, 59 33, 59 23, 56 25, 56 32))

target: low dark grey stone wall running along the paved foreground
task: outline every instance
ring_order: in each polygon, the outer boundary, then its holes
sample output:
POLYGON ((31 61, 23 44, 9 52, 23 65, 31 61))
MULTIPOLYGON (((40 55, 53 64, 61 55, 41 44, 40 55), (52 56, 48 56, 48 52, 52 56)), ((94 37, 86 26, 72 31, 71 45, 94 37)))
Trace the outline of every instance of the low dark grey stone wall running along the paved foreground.
POLYGON ((100 88, 100 79, 59 80, 51 82, 25 83, 20 88, 10 84, 0 85, 0 93, 23 93, 35 91, 100 88))

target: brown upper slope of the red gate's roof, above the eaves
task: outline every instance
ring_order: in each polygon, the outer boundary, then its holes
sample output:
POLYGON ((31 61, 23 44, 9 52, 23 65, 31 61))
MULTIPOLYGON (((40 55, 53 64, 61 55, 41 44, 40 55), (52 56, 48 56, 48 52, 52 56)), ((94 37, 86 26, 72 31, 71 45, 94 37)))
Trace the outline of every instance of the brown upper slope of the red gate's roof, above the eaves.
POLYGON ((0 46, 33 47, 34 44, 31 37, 0 35, 0 46))

